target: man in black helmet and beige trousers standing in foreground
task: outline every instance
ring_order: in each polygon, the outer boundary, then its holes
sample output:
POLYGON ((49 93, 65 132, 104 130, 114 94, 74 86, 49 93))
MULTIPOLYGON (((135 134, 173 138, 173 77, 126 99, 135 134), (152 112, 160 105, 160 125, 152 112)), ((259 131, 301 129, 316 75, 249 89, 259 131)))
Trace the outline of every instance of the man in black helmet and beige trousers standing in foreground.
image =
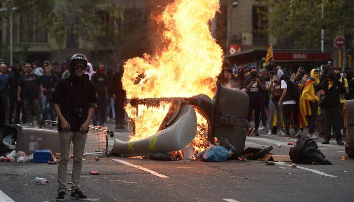
POLYGON ((67 164, 70 144, 73 144, 73 168, 71 174, 71 199, 85 200, 80 191, 82 155, 91 117, 96 108, 96 87, 84 74, 87 59, 75 54, 70 59, 70 76, 58 81, 52 96, 52 107, 58 115, 60 161, 58 166, 57 201, 65 200, 67 164), (59 108, 60 106, 60 108, 59 108))

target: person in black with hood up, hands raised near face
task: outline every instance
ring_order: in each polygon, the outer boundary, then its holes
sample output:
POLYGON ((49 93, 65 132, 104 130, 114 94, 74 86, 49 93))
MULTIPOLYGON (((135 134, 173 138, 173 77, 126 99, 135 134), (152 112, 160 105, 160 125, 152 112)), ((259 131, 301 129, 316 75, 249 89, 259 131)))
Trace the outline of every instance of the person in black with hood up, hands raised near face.
POLYGON ((325 100, 323 100, 323 102, 325 102, 323 108, 325 109, 326 134, 325 141, 323 141, 322 144, 329 144, 333 124, 337 144, 344 145, 342 136, 340 135, 340 97, 344 97, 345 88, 343 84, 336 79, 333 71, 330 71, 327 74, 327 79, 322 81, 318 89, 323 90, 326 96, 325 100))

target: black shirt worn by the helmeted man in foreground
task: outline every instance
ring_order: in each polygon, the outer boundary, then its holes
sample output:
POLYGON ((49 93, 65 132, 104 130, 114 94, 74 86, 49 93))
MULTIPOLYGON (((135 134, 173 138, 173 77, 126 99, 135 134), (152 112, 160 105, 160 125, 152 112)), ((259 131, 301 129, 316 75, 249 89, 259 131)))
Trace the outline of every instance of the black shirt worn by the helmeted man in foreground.
MULTIPOLYGON (((90 107, 96 107, 95 84, 90 81, 87 74, 84 74, 82 78, 69 76, 61 79, 52 96, 52 104, 54 103, 60 106, 60 111, 65 120, 69 122, 71 130, 77 132, 87 119, 87 110, 90 107), (79 114, 81 117, 78 116, 79 114)), ((58 131, 61 130, 59 120, 58 131)))

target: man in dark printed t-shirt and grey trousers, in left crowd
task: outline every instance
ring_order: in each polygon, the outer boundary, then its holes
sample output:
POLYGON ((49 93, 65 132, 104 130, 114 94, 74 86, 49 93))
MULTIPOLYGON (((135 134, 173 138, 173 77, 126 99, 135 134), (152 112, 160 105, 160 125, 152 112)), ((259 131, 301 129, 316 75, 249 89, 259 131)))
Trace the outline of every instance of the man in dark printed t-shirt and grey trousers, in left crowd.
POLYGON ((33 112, 38 127, 40 127, 41 117, 38 94, 40 94, 40 99, 42 99, 43 87, 40 78, 38 75, 32 73, 31 64, 26 63, 26 74, 22 75, 17 89, 17 101, 21 102, 21 100, 23 100, 23 108, 28 118, 29 126, 33 126, 33 112))

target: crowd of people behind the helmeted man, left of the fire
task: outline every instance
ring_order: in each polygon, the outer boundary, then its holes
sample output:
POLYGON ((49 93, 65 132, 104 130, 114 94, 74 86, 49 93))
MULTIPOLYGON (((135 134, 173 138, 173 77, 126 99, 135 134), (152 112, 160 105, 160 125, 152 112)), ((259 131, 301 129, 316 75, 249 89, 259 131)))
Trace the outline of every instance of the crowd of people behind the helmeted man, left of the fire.
MULTIPOLYGON (((52 96, 59 80, 71 75, 68 63, 45 61, 40 64, 20 62, 8 66, 0 59, 0 87, 5 107, 5 123, 28 123, 33 126, 33 118, 37 126, 41 120, 56 121, 57 115, 52 108, 52 96)), ((124 128, 126 121, 123 110, 125 91, 122 89, 122 71, 113 72, 104 63, 97 65, 97 71, 91 63, 87 63, 85 73, 89 75, 97 89, 97 108, 92 118, 93 125, 103 126, 108 120, 115 121, 116 128, 124 128)))

